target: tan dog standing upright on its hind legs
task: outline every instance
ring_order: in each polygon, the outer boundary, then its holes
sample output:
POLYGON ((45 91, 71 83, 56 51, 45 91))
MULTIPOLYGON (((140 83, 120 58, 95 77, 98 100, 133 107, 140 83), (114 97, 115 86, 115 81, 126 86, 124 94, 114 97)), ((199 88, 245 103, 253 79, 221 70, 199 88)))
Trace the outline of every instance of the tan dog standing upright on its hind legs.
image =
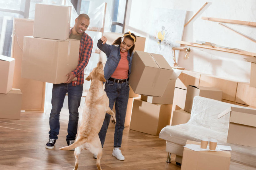
POLYGON ((78 168, 78 156, 84 149, 88 149, 91 153, 97 155, 96 165, 98 170, 102 170, 100 166, 102 146, 98 133, 100 132, 106 113, 111 115, 112 123, 116 123, 115 113, 110 109, 108 96, 103 89, 103 82, 106 82, 106 79, 104 78, 102 62, 98 62, 97 67, 92 70, 85 80, 91 80, 91 85, 86 95, 77 139, 72 145, 59 149, 70 150, 75 148, 76 162, 73 170, 78 168))

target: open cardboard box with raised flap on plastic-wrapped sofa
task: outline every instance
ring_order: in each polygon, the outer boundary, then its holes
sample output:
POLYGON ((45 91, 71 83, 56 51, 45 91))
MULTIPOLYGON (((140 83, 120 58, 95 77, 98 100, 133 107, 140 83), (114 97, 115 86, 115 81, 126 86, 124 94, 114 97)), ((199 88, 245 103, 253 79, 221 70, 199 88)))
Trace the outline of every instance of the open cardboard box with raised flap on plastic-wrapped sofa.
POLYGON ((256 109, 228 107, 218 119, 229 112, 227 143, 256 147, 256 109))

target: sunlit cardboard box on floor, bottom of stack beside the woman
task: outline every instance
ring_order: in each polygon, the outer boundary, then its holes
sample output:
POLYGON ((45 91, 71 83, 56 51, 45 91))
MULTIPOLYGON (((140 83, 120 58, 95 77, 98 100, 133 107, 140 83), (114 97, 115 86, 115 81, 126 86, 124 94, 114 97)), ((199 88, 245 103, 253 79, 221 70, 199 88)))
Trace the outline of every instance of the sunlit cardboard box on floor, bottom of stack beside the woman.
POLYGON ((133 100, 130 129, 159 135, 170 124, 172 105, 152 104, 140 99, 133 100))

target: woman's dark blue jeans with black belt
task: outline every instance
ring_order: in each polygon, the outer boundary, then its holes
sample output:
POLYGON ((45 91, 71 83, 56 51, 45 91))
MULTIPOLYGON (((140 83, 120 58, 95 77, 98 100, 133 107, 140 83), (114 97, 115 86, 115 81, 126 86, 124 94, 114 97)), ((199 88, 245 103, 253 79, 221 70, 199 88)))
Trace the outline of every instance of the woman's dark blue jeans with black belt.
MULTIPOLYGON (((127 109, 127 103, 129 99, 129 83, 116 83, 110 80, 107 80, 105 84, 105 92, 109 98, 109 107, 113 109, 115 103, 115 133, 114 133, 114 148, 120 148, 123 137, 123 129, 125 123, 125 115, 127 109)), ((103 147, 108 125, 110 122, 111 116, 106 113, 102 128, 99 133, 101 145, 103 147)))

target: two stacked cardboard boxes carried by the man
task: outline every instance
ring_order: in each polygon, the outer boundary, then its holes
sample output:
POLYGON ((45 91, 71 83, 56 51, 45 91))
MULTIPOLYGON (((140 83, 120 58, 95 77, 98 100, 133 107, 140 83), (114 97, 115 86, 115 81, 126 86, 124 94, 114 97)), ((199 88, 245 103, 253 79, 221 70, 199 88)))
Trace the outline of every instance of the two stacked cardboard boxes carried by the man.
POLYGON ((80 40, 68 39, 70 18, 71 6, 36 4, 33 37, 24 37, 23 78, 67 81, 66 74, 77 67, 80 45, 80 40))

